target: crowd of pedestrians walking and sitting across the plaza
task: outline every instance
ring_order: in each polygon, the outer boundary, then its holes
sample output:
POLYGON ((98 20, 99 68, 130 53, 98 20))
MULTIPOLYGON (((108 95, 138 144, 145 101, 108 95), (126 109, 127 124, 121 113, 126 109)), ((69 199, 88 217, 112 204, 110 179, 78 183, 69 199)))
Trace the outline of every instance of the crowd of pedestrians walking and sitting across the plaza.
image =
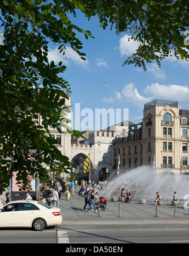
MULTIPOLYGON (((101 190, 107 189, 111 185, 111 180, 109 182, 106 182, 104 180, 103 182, 86 182, 85 180, 81 180, 79 182, 79 195, 81 192, 84 192, 84 207, 83 211, 86 211, 86 206, 89 205, 88 212, 91 211, 98 211, 95 206, 95 199, 100 199, 100 193, 101 190), (93 209, 94 207, 94 209, 93 209)), ((48 206, 52 207, 59 207, 59 201, 62 194, 66 194, 66 200, 69 201, 70 197, 74 196, 74 189, 77 187, 78 182, 75 180, 75 182, 72 180, 71 182, 64 182, 64 180, 55 180, 51 186, 46 185, 45 187, 42 187, 42 195, 43 199, 42 202, 44 204, 47 204, 48 206), (52 187, 54 188, 52 191, 52 187)), ((124 185, 127 185, 126 183, 121 185, 121 197, 125 197, 126 203, 132 203, 132 196, 130 194, 130 190, 128 189, 127 192, 125 191, 124 185)), ((135 185, 137 187, 137 183, 135 185)), ((6 204, 6 192, 1 190, 0 188, 0 206, 3 206, 6 204)), ((29 192, 26 192, 25 199, 26 201, 36 200, 29 194, 29 192)), ((159 192, 156 192, 156 199, 154 199, 154 205, 157 205, 157 202, 161 201, 161 195, 159 192)), ((176 191, 173 193, 173 201, 178 201, 178 195, 176 194, 176 191)))

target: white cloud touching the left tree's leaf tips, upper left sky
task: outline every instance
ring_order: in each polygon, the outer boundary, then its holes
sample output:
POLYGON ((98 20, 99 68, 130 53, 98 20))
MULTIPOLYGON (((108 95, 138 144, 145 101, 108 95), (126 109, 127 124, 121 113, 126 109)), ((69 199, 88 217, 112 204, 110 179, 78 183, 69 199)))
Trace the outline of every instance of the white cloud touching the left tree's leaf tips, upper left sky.
POLYGON ((81 65, 86 68, 88 68, 89 65, 88 59, 86 59, 86 61, 83 61, 83 59, 81 59, 77 52, 72 50, 71 47, 66 47, 64 56, 60 54, 57 47, 55 49, 49 49, 48 59, 49 62, 54 61, 55 64, 58 64, 60 61, 62 61, 64 64, 69 64, 69 62, 71 61, 76 65, 81 65))

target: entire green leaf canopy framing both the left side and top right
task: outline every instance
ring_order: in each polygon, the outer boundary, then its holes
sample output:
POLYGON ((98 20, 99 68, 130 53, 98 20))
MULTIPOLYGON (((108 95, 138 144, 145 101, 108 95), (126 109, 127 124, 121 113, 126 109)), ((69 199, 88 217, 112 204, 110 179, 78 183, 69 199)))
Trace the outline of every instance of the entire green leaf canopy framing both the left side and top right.
MULTIPOLYGON (((189 29, 189 3, 186 0, 3 0, 0 1, 0 182, 5 186, 12 173, 27 184, 27 176, 38 171, 40 178, 70 168, 67 156, 56 147, 49 127, 59 129, 67 92, 62 78, 66 66, 49 63, 49 42, 65 55, 67 45, 84 59, 82 42, 91 32, 71 23, 68 14, 76 9, 88 19, 98 16, 104 29, 129 33, 139 42, 136 52, 123 63, 146 69, 146 64, 167 57, 188 60, 183 33, 189 29), (2 44, 3 42, 3 44, 2 44), (62 107, 63 106, 63 107, 62 107), (42 125, 38 122, 42 116, 42 125), (35 158, 35 161, 31 161, 35 158)), ((70 132, 70 131, 69 131, 70 132)), ((73 131, 74 134, 78 132, 73 131)))

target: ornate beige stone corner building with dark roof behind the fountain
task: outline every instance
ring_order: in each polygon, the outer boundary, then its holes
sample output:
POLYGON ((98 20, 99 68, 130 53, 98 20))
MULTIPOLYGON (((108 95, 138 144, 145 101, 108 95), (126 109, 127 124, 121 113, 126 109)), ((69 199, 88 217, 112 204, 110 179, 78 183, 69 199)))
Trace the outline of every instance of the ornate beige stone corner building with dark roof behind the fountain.
POLYGON ((144 105, 140 124, 130 125, 115 139, 113 165, 127 172, 131 168, 151 165, 160 175, 189 174, 189 110, 180 110, 178 102, 153 100, 144 105))

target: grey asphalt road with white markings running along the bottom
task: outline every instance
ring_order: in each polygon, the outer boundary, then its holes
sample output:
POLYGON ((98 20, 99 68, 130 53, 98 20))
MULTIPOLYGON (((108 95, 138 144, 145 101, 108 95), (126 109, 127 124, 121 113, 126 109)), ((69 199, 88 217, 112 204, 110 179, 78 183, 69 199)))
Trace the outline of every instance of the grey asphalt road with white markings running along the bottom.
MULTIPOLYGON (((108 245, 116 250, 120 244, 189 243, 189 224, 61 224, 41 232, 26 228, 1 228, 0 243, 61 243, 65 250, 69 250, 70 245, 74 248, 76 244, 77 247, 78 244, 86 247, 90 244, 92 248, 93 245, 108 245)), ((95 247, 95 250, 98 248, 95 247)))

